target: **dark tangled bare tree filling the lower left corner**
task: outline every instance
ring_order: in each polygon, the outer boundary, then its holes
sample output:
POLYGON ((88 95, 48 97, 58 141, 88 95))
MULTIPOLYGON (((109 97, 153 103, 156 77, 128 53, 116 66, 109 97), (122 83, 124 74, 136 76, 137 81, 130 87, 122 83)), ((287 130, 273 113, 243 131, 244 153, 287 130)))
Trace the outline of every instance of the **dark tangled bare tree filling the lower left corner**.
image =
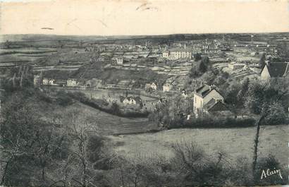
POLYGON ((35 183, 46 186, 51 183, 47 169, 56 168, 56 162, 67 156, 67 144, 63 144, 66 136, 54 124, 42 121, 26 98, 26 95, 13 93, 2 111, 0 143, 4 174, 1 185, 30 186, 35 183))

